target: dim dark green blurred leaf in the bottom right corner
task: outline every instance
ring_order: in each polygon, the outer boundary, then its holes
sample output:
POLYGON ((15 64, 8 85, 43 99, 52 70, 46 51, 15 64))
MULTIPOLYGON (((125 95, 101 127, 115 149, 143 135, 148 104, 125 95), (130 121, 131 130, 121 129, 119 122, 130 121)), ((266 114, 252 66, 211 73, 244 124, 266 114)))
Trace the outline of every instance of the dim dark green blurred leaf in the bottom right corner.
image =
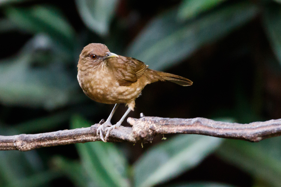
POLYGON ((242 168, 269 186, 281 184, 281 137, 259 143, 226 140, 217 151, 219 157, 242 168))

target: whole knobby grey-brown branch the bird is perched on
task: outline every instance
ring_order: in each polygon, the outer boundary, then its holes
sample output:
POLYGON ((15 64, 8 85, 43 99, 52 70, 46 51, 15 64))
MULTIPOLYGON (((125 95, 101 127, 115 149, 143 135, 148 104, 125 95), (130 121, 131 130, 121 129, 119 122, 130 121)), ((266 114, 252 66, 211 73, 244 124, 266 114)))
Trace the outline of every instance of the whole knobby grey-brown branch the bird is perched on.
MULTIPOLYGON (((133 127, 121 126, 112 130, 108 142, 148 142, 152 141, 157 134, 170 133, 202 134, 251 142, 281 135, 281 119, 250 124, 227 123, 205 118, 143 117, 128 118, 127 121, 133 127)), ((0 136, 0 150, 29 151, 40 147, 101 141, 96 135, 96 130, 100 125, 101 123, 87 128, 51 133, 0 136)))

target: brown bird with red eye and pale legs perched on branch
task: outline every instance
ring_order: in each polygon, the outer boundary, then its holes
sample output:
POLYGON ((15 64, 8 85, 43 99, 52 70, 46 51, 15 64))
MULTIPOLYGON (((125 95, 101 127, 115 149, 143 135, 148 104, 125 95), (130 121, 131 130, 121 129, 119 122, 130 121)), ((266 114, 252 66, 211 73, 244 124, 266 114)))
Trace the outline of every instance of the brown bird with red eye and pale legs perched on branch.
POLYGON ((116 104, 106 122, 97 130, 104 142, 110 130, 120 127, 129 112, 134 111, 135 99, 145 85, 166 80, 181 86, 192 85, 187 78, 155 71, 140 60, 111 53, 104 44, 93 43, 84 47, 77 67, 79 85, 88 97, 100 103, 116 104), (112 125, 111 117, 120 103, 126 103, 128 110, 117 124, 112 125), (105 138, 103 131, 107 131, 105 138))

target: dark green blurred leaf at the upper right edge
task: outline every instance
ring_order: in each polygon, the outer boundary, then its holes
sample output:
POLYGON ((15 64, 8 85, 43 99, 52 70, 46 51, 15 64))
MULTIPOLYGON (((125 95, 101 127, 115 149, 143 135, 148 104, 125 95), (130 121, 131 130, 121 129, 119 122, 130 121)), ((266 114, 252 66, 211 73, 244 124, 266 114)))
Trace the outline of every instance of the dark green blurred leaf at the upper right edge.
POLYGON ((268 5, 264 8, 264 30, 281 64, 281 6, 268 5))

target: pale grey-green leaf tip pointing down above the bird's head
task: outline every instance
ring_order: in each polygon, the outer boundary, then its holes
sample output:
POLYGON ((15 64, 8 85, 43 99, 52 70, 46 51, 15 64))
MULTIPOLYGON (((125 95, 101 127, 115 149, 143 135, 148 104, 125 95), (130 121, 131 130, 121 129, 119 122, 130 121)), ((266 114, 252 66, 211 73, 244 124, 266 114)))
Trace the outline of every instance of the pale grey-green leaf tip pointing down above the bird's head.
POLYGON ((91 30, 107 35, 118 0, 76 0, 78 12, 91 30))

